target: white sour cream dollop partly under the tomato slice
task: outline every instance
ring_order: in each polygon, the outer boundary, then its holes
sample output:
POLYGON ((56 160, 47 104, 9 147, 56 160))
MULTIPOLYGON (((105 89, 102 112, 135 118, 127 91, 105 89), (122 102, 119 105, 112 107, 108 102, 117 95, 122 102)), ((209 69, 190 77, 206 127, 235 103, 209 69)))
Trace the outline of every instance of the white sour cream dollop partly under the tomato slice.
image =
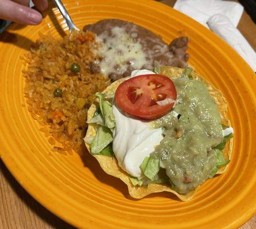
MULTIPOLYGON (((149 70, 134 70, 131 77, 154 74, 149 70)), ((113 132, 113 151, 118 165, 131 176, 141 178, 141 165, 154 148, 164 138, 162 128, 150 128, 149 121, 133 119, 113 105, 115 129, 113 132)))

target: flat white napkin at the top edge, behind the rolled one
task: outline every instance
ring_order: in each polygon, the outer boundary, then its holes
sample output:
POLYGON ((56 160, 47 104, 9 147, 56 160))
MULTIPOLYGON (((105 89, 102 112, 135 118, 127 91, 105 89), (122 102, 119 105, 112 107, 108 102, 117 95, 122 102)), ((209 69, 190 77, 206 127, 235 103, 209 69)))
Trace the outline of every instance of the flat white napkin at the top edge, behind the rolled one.
POLYGON ((226 15, 236 27, 243 13, 243 6, 236 2, 221 0, 177 0, 174 9, 207 26, 208 19, 215 14, 226 15))

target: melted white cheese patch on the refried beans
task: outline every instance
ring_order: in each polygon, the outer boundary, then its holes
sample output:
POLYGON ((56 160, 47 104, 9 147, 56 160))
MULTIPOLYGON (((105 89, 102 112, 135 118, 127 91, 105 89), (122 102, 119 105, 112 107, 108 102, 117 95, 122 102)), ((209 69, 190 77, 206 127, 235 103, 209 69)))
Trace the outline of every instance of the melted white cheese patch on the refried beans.
POLYGON ((102 42, 98 53, 103 57, 97 64, 100 65, 104 76, 115 72, 124 73, 129 64, 137 69, 147 64, 142 45, 139 42, 134 42, 124 28, 115 26, 111 32, 113 34, 111 37, 104 32, 97 38, 98 42, 102 42))

